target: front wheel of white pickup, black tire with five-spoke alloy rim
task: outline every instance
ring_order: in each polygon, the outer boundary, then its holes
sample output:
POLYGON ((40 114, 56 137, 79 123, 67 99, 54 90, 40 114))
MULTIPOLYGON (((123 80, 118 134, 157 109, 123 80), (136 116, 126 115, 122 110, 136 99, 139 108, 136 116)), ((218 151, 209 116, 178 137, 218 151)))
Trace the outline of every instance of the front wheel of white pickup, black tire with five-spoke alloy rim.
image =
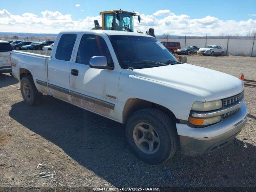
POLYGON ((145 108, 130 116, 126 124, 126 139, 132 152, 148 164, 160 164, 167 161, 178 148, 175 121, 161 110, 154 108, 145 108), (150 126, 153 127, 154 136, 151 135, 151 132, 137 131, 137 127, 144 125, 148 126, 148 130, 150 130, 150 126), (157 140, 159 142, 156 142, 157 140), (142 141, 141 144, 138 144, 138 141, 142 141), (149 147, 151 143, 153 143, 152 152, 149 147))

